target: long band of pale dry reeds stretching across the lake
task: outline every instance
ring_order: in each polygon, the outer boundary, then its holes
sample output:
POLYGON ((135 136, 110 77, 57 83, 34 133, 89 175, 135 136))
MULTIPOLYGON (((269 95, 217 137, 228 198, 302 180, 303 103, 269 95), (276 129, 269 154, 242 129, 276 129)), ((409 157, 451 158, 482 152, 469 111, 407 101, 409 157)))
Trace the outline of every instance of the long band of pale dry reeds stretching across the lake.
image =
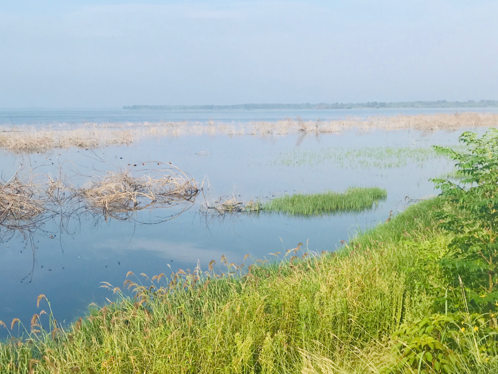
POLYGON ((462 128, 498 127, 498 114, 462 112, 456 114, 438 113, 434 115, 412 115, 393 117, 345 118, 327 121, 304 121, 287 118, 274 122, 215 123, 201 122, 159 122, 159 123, 103 123, 82 124, 77 129, 69 129, 61 124, 34 129, 26 126, 4 127, 0 129, 0 147, 10 151, 44 152, 54 148, 98 148, 110 145, 128 145, 146 138, 189 135, 289 135, 289 134, 330 134, 345 130, 363 131, 382 129, 414 129, 421 131, 448 130, 462 128))

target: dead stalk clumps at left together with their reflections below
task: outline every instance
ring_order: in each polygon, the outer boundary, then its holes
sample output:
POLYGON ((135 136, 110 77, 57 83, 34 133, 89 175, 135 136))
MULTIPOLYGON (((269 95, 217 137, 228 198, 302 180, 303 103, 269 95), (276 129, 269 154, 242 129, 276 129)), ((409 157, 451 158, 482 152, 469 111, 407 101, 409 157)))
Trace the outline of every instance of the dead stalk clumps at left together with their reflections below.
POLYGON ((158 168, 106 172, 83 187, 72 185, 62 172, 58 179, 42 181, 43 176, 22 169, 0 183, 0 241, 18 238, 21 253, 32 251, 32 267, 21 282, 33 280, 40 237, 55 239, 64 253, 63 237, 74 238, 83 223, 94 228, 110 220, 159 224, 190 209, 202 187, 169 163, 154 164, 158 168), (148 214, 138 214, 144 210, 148 214))

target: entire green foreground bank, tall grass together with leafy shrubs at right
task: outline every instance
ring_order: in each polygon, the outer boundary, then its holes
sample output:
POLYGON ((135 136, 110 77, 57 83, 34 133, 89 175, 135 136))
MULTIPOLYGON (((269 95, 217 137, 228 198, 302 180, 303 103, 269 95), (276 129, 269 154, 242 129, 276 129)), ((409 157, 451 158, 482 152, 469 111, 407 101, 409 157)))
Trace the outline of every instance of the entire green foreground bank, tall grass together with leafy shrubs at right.
POLYGON ((497 373, 498 131, 460 140, 467 152, 436 148, 460 184, 434 180, 441 196, 336 252, 299 243, 271 262, 129 272, 123 290, 104 283, 113 302, 70 326, 40 295, 48 308, 30 326, 0 321, 13 335, 0 372, 497 373))

